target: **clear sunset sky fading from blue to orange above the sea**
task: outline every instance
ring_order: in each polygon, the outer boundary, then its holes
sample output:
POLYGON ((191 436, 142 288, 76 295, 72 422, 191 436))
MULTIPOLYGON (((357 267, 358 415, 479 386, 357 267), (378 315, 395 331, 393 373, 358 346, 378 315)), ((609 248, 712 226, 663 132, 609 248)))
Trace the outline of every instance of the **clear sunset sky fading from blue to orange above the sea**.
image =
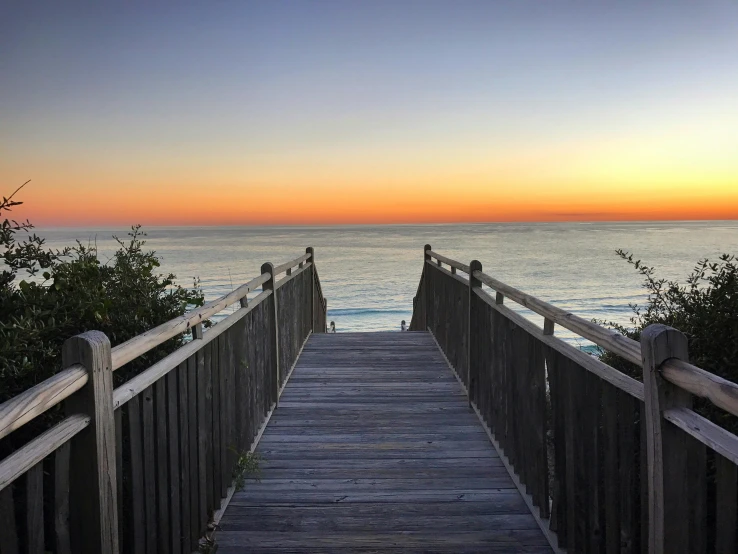
POLYGON ((738 1, 4 2, 37 225, 738 219, 738 1))

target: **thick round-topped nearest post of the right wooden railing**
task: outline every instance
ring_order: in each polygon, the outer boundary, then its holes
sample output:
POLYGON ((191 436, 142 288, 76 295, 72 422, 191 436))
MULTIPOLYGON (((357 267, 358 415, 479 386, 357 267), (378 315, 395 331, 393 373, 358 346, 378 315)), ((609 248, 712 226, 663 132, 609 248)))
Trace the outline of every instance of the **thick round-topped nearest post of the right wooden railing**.
POLYGON ((666 325, 649 325, 641 333, 641 357, 648 458, 648 551, 650 554, 663 554, 673 551, 675 546, 668 544, 667 524, 686 525, 686 522, 669 522, 665 512, 670 504, 688 502, 689 499, 670 498, 670 486, 665 477, 671 473, 668 466, 675 461, 678 463, 674 458, 679 457, 679 452, 669 449, 669 444, 679 431, 673 426, 670 428, 671 424, 662 414, 670 408, 691 408, 692 395, 661 377, 659 368, 669 358, 688 359, 687 337, 666 325))

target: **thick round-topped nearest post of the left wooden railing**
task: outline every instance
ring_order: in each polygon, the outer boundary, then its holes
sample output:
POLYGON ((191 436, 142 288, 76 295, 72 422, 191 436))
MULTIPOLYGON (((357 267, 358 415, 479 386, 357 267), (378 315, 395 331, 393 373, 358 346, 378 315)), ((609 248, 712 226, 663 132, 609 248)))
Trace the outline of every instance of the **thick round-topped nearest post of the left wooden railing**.
POLYGON ((118 481, 115 467, 113 360, 110 341, 88 331, 64 343, 64 367, 82 364, 87 384, 65 402, 68 415, 86 414, 90 425, 71 441, 69 459, 72 551, 118 552, 118 481))

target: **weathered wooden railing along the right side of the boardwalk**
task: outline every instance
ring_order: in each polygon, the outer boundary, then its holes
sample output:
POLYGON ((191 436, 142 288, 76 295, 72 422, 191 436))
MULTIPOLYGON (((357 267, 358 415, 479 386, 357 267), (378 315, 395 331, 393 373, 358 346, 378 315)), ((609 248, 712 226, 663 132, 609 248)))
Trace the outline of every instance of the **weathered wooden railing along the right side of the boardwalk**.
POLYGON ((691 365, 678 330, 652 325, 638 343, 430 245, 410 329, 433 333, 559 547, 738 552, 738 437, 692 409, 699 396, 738 415, 738 385, 691 365), (556 325, 642 367, 643 382, 558 339, 556 325))

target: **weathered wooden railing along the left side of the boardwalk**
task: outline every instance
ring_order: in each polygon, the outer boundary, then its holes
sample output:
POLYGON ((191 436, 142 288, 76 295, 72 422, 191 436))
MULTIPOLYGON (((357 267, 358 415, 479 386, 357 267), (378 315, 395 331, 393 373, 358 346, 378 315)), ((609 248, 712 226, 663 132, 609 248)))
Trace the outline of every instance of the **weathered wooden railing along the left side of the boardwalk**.
POLYGON ((0 405, 0 439, 61 402, 66 414, 0 461, 0 552, 197 551, 302 345, 325 331, 325 308, 308 248, 114 348, 98 331, 67 340, 66 369, 0 405), (113 371, 190 331, 113 388, 113 371))

